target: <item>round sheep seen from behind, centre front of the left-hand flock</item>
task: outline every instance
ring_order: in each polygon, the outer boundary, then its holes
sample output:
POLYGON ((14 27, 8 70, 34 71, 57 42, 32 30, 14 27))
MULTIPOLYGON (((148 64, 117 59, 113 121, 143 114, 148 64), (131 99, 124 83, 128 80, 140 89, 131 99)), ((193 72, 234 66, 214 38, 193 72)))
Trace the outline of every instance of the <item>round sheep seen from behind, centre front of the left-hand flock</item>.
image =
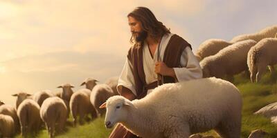
POLYGON ((55 124, 60 132, 64 129, 67 116, 66 105, 59 97, 49 97, 42 103, 40 117, 45 122, 50 137, 54 136, 55 124))

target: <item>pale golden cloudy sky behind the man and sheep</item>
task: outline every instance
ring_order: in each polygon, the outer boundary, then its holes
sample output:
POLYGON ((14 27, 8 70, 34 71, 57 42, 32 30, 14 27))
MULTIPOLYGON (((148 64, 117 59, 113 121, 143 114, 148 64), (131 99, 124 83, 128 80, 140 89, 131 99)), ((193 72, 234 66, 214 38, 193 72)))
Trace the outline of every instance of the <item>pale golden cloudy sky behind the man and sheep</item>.
POLYGON ((87 77, 104 83, 120 75, 131 36, 127 14, 150 8, 157 19, 197 51, 206 39, 277 25, 275 0, 0 0, 0 100, 11 95, 74 90, 87 77))

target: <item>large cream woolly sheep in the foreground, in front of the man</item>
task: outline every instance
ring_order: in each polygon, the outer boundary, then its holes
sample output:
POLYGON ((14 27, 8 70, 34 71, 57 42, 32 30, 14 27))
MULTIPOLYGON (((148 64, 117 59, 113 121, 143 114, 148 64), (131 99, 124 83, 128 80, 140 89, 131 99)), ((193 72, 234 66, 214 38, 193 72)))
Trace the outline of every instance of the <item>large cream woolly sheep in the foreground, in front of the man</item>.
POLYGON ((116 95, 104 107, 107 128, 120 123, 139 137, 188 138, 213 128, 221 137, 240 137, 240 92, 215 77, 166 83, 134 101, 116 95))

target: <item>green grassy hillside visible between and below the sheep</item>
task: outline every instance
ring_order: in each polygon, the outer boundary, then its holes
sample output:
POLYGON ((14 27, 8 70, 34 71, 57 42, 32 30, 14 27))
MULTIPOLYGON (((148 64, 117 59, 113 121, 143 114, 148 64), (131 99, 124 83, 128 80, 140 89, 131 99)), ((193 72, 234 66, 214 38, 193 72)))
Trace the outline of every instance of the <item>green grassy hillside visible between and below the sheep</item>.
MULTIPOLYGON (((276 66, 277 68, 277 66, 276 66)), ((270 119, 262 117, 260 115, 253 115, 260 108, 266 106, 269 103, 277 101, 277 70, 271 76, 269 72, 262 77, 260 83, 251 83, 249 77, 243 73, 236 75, 233 83, 240 89, 243 97, 243 109, 242 109, 242 133, 241 137, 248 137, 251 130, 262 129, 269 132, 270 138, 277 137, 277 126, 271 124, 270 119)), ((71 119, 69 119, 71 120, 71 119)), ((91 121, 83 126, 77 126, 73 128, 71 126, 66 127, 66 131, 57 135, 57 138, 71 138, 71 137, 108 137, 111 130, 108 130, 104 126, 104 118, 99 118, 91 121)), ((205 132, 205 135, 213 135, 218 137, 216 133, 211 130, 205 132)), ((17 136, 20 137, 20 136, 17 136)), ((38 135, 30 137, 48 137, 46 130, 41 130, 38 135)))

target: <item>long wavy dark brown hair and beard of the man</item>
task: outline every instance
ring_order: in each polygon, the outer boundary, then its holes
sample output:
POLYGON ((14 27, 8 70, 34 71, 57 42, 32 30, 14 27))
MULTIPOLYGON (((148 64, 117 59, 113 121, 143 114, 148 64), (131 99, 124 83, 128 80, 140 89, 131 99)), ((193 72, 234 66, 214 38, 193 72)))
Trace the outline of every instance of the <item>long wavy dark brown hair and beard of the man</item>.
MULTIPOLYGON (((163 37, 163 34, 170 33, 170 30, 163 25, 161 21, 158 21, 154 14, 145 7, 137 7, 130 12, 127 17, 133 17, 137 21, 141 22, 142 31, 145 31, 150 37, 158 41, 159 37, 163 37)), ((142 41, 135 41, 134 35, 130 39, 130 43, 143 43, 142 41)))

